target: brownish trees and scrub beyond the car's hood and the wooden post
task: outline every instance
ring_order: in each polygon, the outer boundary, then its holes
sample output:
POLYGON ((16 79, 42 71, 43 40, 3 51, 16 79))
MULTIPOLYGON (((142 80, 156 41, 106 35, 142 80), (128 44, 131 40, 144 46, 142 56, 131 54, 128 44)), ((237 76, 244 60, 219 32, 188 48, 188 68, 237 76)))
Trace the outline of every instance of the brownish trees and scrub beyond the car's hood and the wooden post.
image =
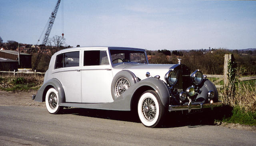
MULTIPOLYGON (((147 50, 147 54, 150 53, 152 58, 154 58, 155 55, 158 55, 161 52, 162 50, 160 49, 158 51, 147 50)), ((236 59, 236 63, 238 67, 244 68, 244 71, 246 72, 256 72, 256 61, 255 61, 256 50, 254 51, 239 50, 238 51, 238 50, 226 50, 224 48, 218 48, 218 49, 211 48, 210 50, 201 49, 201 50, 190 50, 190 51, 173 50, 170 56, 166 56, 163 53, 165 57, 162 56, 163 60, 159 59, 158 61, 176 64, 177 58, 182 58, 181 63, 186 64, 188 67, 191 68, 192 71, 196 69, 200 69, 204 74, 223 74, 224 54, 230 54, 230 53, 234 55, 234 58, 236 59), (178 52, 182 53, 183 56, 178 52), (166 58, 167 58, 167 61, 166 61, 166 58)), ((151 61, 149 58, 149 62, 153 63, 156 61, 155 60, 151 61)), ((246 74, 246 72, 244 72, 243 74, 246 74)))

